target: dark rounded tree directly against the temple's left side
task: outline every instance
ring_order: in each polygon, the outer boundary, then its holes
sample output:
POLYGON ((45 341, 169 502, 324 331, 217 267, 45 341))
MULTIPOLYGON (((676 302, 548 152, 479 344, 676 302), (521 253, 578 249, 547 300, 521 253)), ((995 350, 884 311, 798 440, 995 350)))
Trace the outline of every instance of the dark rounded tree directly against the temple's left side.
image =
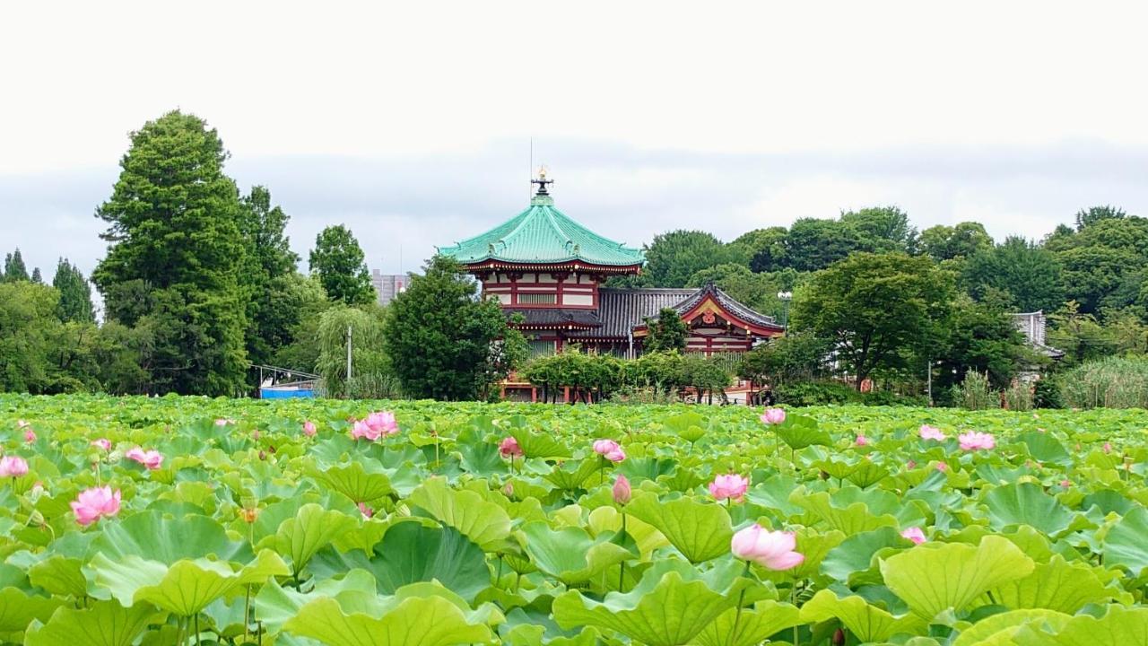
POLYGON ((497 301, 453 259, 436 255, 387 308, 383 347, 403 393, 414 398, 484 398, 526 357, 521 332, 497 301))

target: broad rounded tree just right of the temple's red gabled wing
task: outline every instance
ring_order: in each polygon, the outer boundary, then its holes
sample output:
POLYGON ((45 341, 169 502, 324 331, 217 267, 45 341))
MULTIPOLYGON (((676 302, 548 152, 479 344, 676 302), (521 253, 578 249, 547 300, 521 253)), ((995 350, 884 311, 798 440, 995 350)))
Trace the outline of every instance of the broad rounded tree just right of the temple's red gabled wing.
POLYGON ((858 253, 797 294, 792 326, 832 339, 860 387, 875 369, 902 369, 908 352, 936 343, 952 299, 952 276, 928 257, 858 253))

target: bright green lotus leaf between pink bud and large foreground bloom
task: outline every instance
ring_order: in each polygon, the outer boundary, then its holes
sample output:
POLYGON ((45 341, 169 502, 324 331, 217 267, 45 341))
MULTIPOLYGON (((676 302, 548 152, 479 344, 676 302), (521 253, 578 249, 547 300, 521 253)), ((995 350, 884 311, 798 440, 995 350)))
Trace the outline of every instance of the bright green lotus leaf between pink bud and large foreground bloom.
POLYGON ((734 537, 729 513, 714 502, 688 497, 662 501, 641 492, 634 494, 626 513, 660 531, 691 563, 729 553, 734 537))

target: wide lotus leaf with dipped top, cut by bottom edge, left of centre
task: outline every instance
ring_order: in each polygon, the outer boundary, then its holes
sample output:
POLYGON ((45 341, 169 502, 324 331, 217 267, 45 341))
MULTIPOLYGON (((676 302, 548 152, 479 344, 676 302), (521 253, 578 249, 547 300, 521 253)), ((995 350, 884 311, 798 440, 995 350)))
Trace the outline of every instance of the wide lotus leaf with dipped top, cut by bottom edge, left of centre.
POLYGON ((486 623, 442 597, 411 597, 381 616, 344 613, 324 597, 300 608, 284 630, 328 646, 456 646, 492 637, 486 623))

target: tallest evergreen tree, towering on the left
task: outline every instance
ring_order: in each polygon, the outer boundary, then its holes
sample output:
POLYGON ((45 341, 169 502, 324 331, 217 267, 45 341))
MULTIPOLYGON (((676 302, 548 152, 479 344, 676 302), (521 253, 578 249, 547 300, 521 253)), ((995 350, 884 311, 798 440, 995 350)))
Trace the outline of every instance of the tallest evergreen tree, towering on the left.
POLYGON ((235 393, 247 371, 247 249, 239 192, 223 172, 227 152, 203 120, 179 110, 131 140, 113 194, 96 209, 110 245, 92 279, 109 316, 154 328, 157 391, 235 393), (135 287, 117 289, 127 284, 135 287), (121 302, 127 293, 148 307, 121 302))

